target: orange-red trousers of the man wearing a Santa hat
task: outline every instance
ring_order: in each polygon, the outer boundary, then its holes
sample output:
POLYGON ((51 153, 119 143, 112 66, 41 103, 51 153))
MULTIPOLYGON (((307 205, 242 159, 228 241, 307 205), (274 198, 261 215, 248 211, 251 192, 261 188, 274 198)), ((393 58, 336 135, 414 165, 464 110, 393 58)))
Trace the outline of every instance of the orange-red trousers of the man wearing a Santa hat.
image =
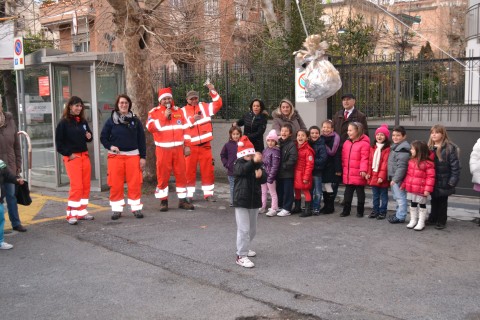
POLYGON ((155 198, 166 200, 168 198, 168 180, 173 170, 177 196, 185 199, 187 196, 187 178, 185 176, 185 156, 183 146, 172 148, 155 148, 157 157, 157 190, 155 198))

